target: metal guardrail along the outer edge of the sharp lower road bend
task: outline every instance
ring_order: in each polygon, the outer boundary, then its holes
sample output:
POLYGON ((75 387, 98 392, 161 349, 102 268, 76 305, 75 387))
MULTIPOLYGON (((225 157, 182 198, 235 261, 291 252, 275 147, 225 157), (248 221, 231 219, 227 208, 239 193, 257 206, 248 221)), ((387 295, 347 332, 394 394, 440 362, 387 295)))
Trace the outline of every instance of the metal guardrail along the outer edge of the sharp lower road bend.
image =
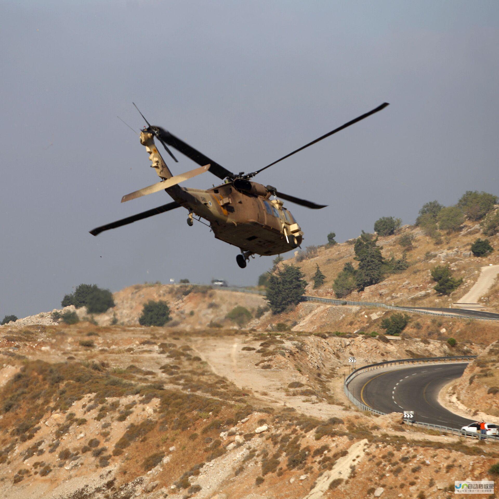
MULTIPOLYGON (((372 412, 374 414, 378 414, 380 416, 383 416, 385 414, 388 414, 386 412, 378 411, 377 409, 373 409, 372 407, 367 406, 360 400, 356 399, 353 395, 353 393, 348 389, 348 385, 350 382, 356 378, 359 374, 365 372, 365 371, 371 371, 374 369, 383 369, 385 367, 391 366, 391 365, 403 365, 403 364, 425 364, 425 363, 433 363, 433 362, 467 362, 470 360, 475 359, 477 356, 476 355, 460 355, 456 357, 426 357, 422 359, 399 359, 399 360, 390 360, 390 361, 385 361, 385 362, 378 362, 376 364, 368 364, 367 366, 359 367, 358 369, 355 369, 344 381, 343 383, 343 391, 345 392, 345 395, 348 397, 348 400, 352 402, 355 406, 357 406, 361 411, 368 411, 372 412)), ((395 412, 395 411, 394 411, 395 412)), ((451 434, 451 435, 457 435, 460 437, 466 437, 466 438, 474 438, 476 440, 491 440, 494 442, 499 442, 499 436, 495 435, 482 435, 480 433, 468 433, 468 432, 462 432, 461 428, 452 428, 450 426, 442 426, 442 425, 434 425, 432 423, 422 423, 422 422, 412 422, 407 418, 403 418, 403 421, 405 421, 407 424, 413 425, 413 426, 418 426, 421 428, 426 428, 429 430, 435 430, 440 433, 445 433, 445 434, 451 434)))

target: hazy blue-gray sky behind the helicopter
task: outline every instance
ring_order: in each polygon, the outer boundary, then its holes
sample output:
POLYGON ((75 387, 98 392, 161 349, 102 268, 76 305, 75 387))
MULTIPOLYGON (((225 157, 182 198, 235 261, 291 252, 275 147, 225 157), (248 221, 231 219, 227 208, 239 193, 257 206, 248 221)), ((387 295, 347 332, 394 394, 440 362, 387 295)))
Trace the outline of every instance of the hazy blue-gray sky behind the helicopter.
MULTIPOLYGON (((236 172, 390 102, 258 177, 329 205, 288 204, 304 246, 499 194, 498 14, 497 1, 2 1, 0 318, 51 310, 81 282, 254 284, 271 265, 240 269, 185 210, 88 234, 170 199, 120 204, 157 180, 116 118, 143 126, 132 101, 236 172)), ((194 167, 177 156, 174 174, 194 167)))

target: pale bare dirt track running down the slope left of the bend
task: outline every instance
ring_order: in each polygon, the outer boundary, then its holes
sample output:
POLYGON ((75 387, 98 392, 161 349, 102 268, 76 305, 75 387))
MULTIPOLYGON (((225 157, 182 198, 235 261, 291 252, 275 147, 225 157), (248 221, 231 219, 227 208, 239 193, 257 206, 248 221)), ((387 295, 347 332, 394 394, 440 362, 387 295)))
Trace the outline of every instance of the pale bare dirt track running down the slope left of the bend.
POLYGON ((216 374, 225 376, 239 388, 250 389, 268 405, 293 407, 321 419, 357 414, 337 405, 324 402, 312 404, 304 402, 303 397, 287 397, 284 389, 297 379, 297 371, 256 367, 255 354, 241 349, 243 346, 257 347, 258 342, 243 342, 239 337, 197 338, 193 339, 191 345, 216 374))

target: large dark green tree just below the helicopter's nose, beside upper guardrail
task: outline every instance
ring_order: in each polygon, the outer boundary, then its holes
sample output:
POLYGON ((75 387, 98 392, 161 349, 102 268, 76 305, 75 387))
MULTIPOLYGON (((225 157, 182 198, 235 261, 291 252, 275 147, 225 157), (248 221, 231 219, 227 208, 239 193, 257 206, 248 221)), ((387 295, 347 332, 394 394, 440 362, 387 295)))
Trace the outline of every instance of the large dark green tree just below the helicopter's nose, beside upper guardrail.
POLYGON ((272 313, 283 312, 300 302, 306 286, 303 277, 298 267, 286 264, 270 276, 265 299, 272 313))

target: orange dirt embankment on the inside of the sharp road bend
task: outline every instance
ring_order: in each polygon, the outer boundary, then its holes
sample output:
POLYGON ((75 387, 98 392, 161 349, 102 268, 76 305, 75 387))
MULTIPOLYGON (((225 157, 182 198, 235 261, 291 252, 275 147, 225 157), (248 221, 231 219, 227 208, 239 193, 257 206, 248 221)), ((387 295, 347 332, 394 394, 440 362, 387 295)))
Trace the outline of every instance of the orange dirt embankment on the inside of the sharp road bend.
POLYGON ((467 417, 499 423, 499 342, 471 362, 463 376, 442 392, 442 399, 467 417))

